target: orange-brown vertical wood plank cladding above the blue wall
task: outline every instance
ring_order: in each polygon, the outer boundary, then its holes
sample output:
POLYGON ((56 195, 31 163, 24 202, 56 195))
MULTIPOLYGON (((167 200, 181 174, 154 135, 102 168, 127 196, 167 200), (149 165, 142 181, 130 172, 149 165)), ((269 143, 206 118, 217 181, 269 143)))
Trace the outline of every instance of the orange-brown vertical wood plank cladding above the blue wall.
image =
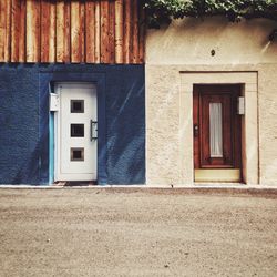
POLYGON ((0 62, 143 63, 140 0, 0 0, 0 62))

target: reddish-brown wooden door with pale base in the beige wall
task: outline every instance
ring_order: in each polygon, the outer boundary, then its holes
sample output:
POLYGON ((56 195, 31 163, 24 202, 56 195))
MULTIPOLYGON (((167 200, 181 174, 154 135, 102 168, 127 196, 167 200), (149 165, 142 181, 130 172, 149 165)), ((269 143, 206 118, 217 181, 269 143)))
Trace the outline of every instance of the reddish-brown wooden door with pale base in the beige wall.
POLYGON ((239 85, 195 85, 196 182, 240 182, 239 85))

